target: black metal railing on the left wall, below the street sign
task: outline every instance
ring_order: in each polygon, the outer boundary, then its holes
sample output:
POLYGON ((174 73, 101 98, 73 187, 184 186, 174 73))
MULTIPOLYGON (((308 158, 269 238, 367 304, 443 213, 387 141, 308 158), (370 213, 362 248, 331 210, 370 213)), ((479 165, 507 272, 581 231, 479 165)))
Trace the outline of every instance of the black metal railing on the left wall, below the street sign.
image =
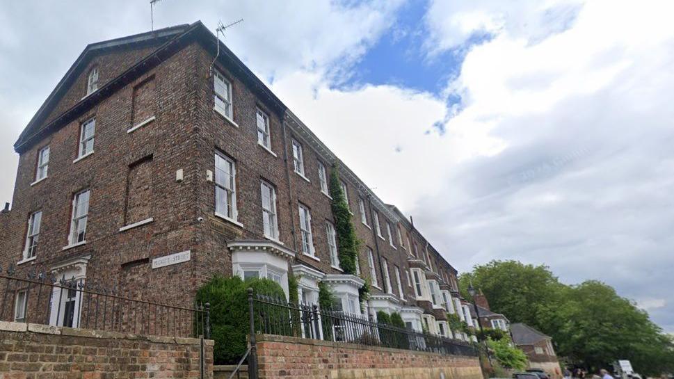
POLYGON ((209 338, 209 305, 176 307, 122 296, 90 279, 0 267, 0 321, 209 338))

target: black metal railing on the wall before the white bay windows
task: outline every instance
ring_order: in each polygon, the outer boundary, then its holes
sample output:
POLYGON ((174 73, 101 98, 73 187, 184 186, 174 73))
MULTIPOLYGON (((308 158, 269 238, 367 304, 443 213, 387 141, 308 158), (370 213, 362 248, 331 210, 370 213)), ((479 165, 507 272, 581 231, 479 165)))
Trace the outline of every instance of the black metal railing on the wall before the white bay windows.
POLYGON ((322 339, 387 348, 476 356, 463 341, 397 328, 348 312, 323 310, 316 305, 292 304, 284 299, 250 293, 252 327, 257 333, 322 339))

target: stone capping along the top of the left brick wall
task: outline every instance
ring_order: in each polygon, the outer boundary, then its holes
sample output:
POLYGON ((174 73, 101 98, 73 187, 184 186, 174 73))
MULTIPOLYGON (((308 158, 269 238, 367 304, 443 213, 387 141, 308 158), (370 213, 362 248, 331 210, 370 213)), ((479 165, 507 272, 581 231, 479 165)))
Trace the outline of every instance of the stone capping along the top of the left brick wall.
MULTIPOLYGON (((131 339, 138 341, 148 341, 157 344, 177 344, 177 345, 200 345, 201 339, 186 337, 166 337, 166 336, 147 336, 141 334, 127 334, 120 332, 109 332, 105 330, 66 328, 63 326, 52 326, 34 323, 14 323, 9 321, 0 321, 0 331, 5 332, 33 332, 40 334, 55 334, 72 337, 88 337, 100 339, 131 339)), ((214 346, 212 339, 204 339, 206 346, 214 346)))

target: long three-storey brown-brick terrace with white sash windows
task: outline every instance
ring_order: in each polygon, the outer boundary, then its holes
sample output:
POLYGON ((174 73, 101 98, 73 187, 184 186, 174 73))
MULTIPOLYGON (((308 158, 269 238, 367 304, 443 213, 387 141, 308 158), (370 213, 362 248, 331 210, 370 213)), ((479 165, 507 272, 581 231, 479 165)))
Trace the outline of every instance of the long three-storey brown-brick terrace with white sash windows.
MULTIPOLYGON (((447 312, 472 324, 456 270, 411 219, 218 43, 195 22, 84 49, 15 143, 2 260, 174 305, 216 273, 268 277, 286 293, 294 273, 307 302, 326 282, 347 312, 400 312, 444 336, 447 312), (363 241, 360 277, 337 261, 335 163, 363 241), (364 280, 373 291, 360 307, 364 280)), ((51 321, 79 325, 84 305, 61 295, 51 321)))

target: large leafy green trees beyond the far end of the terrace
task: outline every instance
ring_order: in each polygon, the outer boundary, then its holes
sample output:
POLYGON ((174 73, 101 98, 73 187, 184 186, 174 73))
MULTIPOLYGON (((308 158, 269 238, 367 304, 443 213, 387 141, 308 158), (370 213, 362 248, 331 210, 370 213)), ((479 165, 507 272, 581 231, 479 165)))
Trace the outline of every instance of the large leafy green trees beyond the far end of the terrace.
POLYGON ((597 281, 562 284, 547 266, 491 261, 460 277, 460 289, 481 289, 492 311, 552 337, 570 364, 597 370, 630 360, 636 371, 674 370, 674 342, 648 314, 615 289, 597 281))

